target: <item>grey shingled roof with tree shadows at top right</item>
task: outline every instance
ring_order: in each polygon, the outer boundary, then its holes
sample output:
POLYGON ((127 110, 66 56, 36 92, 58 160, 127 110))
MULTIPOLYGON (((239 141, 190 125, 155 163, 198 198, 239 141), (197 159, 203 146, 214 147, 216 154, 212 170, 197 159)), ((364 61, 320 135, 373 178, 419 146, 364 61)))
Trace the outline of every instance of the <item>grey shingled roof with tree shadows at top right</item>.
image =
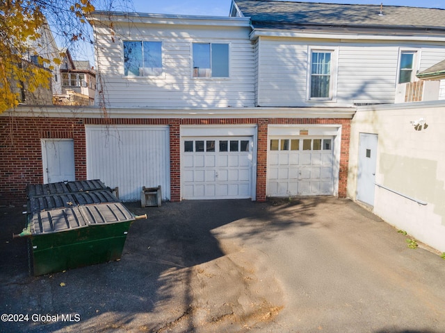
MULTIPOLYGON (((380 2, 380 1, 379 1, 380 2)), ((234 0, 254 28, 396 28, 422 33, 445 31, 445 10, 402 6, 234 0)))

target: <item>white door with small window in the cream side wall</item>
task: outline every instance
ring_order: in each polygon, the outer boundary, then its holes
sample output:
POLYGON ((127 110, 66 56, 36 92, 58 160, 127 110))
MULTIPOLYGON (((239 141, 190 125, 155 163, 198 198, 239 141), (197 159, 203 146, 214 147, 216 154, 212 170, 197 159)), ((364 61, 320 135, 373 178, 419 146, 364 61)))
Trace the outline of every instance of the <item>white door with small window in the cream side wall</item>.
POLYGON ((374 205, 377 146, 377 134, 360 133, 359 167, 357 171, 357 200, 371 206, 374 205))

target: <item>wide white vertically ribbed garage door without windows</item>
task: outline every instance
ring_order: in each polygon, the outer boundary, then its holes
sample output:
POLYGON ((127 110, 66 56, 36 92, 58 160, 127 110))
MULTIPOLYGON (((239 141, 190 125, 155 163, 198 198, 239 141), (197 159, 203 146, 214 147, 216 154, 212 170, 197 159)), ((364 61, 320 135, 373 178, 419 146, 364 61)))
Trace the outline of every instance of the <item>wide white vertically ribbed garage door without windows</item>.
POLYGON ((170 199, 168 126, 86 126, 87 176, 119 187, 122 201, 140 200, 143 186, 161 185, 170 199))

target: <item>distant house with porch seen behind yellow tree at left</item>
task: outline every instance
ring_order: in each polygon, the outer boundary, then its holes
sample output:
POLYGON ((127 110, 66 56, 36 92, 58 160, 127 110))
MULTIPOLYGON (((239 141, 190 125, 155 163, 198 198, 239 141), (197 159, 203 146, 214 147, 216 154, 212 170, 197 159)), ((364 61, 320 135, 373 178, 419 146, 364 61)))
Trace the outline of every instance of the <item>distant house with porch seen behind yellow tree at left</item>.
POLYGON ((61 91, 54 95, 56 105, 94 105, 96 72, 88 60, 72 60, 68 50, 60 66, 61 91))

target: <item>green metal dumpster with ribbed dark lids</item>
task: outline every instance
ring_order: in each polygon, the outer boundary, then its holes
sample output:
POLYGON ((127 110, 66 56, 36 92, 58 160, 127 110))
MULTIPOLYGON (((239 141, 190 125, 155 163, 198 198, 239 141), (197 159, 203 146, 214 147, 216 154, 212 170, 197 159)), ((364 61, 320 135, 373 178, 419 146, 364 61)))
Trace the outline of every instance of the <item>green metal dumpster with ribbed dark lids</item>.
POLYGON ((34 275, 120 259, 131 223, 147 216, 134 216, 106 189, 80 193, 60 186, 46 194, 29 187, 31 213, 15 237, 31 240, 34 275))

